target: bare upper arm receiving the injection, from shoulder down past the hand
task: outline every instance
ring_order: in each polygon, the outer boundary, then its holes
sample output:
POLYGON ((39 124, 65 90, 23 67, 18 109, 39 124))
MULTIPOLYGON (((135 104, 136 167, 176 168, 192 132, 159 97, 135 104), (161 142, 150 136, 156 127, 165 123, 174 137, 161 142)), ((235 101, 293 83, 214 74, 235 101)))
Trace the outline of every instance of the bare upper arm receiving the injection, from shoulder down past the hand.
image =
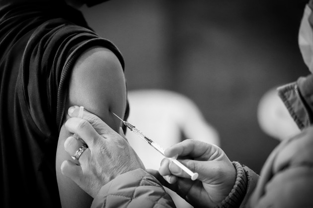
MULTIPOLYGON (((126 84, 122 66, 113 52, 94 47, 78 57, 70 79, 66 110, 71 105, 84 106, 86 110, 100 117, 118 132, 121 123, 116 120, 114 122, 110 111, 123 118, 126 109, 126 84)), ((67 119, 68 116, 65 121, 67 119)), ((62 162, 71 159, 71 156, 64 150, 64 142, 69 136, 70 133, 63 123, 56 156, 56 172, 62 207, 89 208, 92 198, 61 173, 62 162)))

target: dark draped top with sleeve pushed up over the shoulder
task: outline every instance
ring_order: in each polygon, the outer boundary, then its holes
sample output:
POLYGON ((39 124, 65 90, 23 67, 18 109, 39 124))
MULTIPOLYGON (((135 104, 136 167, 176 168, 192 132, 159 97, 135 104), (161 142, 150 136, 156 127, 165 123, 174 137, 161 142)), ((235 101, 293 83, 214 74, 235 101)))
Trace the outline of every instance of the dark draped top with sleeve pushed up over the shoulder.
POLYGON ((55 160, 68 82, 78 56, 94 46, 124 68, 117 48, 65 3, 0 5, 1 208, 61 207, 55 160))

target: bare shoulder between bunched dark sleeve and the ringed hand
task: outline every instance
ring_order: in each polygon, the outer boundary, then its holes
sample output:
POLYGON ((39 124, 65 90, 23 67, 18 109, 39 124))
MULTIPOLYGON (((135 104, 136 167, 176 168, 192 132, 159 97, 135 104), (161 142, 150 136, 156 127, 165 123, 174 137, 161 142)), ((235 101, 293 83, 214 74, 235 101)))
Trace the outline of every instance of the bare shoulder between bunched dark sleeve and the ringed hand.
POLYGON ((83 105, 118 130, 113 119, 108 119, 109 110, 124 115, 126 102, 125 77, 118 57, 97 46, 83 52, 73 67, 68 103, 83 105))

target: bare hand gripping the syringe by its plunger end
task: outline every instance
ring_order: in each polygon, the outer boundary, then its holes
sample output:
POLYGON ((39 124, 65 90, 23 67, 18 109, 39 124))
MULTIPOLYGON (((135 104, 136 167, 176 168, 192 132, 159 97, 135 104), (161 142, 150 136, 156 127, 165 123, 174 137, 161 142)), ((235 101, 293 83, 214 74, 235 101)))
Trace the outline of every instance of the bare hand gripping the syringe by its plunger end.
POLYGON ((223 150, 215 145, 185 140, 166 149, 164 154, 167 157, 178 155, 178 161, 199 174, 198 179, 192 181, 168 158, 161 161, 159 172, 147 171, 194 207, 215 207, 235 185, 235 167, 223 150))

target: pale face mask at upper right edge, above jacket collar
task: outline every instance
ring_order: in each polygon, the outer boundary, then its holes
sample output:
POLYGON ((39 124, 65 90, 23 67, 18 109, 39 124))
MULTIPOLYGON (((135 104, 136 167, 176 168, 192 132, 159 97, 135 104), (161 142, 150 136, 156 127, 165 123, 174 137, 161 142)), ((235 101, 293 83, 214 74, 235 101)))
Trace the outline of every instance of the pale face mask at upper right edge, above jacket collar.
POLYGON ((311 13, 311 8, 306 5, 299 30, 299 47, 305 63, 313 73, 313 32, 309 22, 311 13))

